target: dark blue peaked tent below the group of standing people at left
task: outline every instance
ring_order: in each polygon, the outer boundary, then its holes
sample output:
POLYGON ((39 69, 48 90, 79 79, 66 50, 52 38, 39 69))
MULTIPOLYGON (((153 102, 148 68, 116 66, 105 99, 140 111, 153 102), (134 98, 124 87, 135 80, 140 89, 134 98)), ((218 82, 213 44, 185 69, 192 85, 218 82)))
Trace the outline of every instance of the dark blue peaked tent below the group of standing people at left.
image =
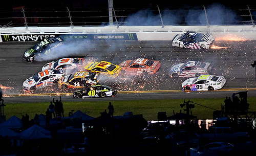
POLYGON ((37 139, 51 139, 51 131, 41 128, 38 125, 33 125, 20 133, 22 140, 37 140, 37 139))

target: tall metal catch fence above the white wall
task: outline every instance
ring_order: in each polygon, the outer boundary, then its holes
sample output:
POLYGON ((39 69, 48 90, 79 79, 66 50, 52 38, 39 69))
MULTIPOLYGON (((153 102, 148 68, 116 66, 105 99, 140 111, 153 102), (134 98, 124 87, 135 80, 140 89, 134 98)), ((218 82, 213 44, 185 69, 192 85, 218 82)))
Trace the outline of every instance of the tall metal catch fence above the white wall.
POLYGON ((36 9, 13 8, 0 11, 0 27, 63 27, 63 26, 162 26, 165 25, 252 25, 255 6, 36 9), (110 17, 110 12, 113 17, 110 17), (110 22, 113 20, 113 23, 110 22))

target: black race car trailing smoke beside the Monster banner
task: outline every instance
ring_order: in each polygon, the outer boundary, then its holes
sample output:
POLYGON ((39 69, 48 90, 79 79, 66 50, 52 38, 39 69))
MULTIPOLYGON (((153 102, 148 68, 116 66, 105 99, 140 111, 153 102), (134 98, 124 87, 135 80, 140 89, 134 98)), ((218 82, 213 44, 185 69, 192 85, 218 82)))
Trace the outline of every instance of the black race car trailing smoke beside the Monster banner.
POLYGON ((29 48, 24 52, 23 58, 27 62, 33 62, 36 56, 40 56, 40 53, 48 55, 51 51, 62 44, 60 37, 45 38, 44 40, 37 42, 34 47, 29 48))

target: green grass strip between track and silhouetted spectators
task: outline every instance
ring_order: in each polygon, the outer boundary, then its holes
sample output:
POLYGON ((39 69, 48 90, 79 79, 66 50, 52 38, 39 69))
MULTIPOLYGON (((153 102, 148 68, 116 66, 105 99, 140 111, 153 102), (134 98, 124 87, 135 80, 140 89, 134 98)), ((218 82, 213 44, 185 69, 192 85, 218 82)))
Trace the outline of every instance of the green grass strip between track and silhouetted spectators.
MULTIPOLYGON (((194 116, 198 119, 212 119, 214 110, 221 110, 221 104, 224 105, 225 98, 199 98, 199 99, 185 99, 190 100, 195 104, 195 108, 191 109, 194 116)), ((185 113, 181 108, 184 99, 160 99, 160 100, 124 100, 124 101, 83 101, 83 102, 65 102, 63 103, 64 115, 67 117, 69 112, 73 109, 74 112, 81 110, 92 117, 99 117, 104 109, 108 111, 109 102, 115 108, 114 116, 121 116, 125 112, 133 112, 134 115, 142 114, 147 121, 157 120, 158 112, 166 112, 167 117, 173 116, 173 111, 185 113)), ((256 97, 248 97, 250 112, 256 111, 256 97)), ((30 119, 33 119, 35 114, 44 114, 49 106, 49 103, 12 103, 6 104, 4 114, 6 120, 12 116, 22 118, 22 115, 28 114, 30 119)))

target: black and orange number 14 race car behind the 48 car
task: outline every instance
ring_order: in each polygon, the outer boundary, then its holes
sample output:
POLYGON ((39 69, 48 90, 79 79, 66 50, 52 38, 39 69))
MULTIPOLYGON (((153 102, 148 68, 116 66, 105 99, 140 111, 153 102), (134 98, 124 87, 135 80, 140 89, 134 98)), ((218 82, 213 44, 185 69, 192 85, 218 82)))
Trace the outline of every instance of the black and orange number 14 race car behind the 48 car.
POLYGON ((59 88, 82 88, 97 84, 99 73, 80 71, 75 74, 67 74, 58 81, 59 88))

